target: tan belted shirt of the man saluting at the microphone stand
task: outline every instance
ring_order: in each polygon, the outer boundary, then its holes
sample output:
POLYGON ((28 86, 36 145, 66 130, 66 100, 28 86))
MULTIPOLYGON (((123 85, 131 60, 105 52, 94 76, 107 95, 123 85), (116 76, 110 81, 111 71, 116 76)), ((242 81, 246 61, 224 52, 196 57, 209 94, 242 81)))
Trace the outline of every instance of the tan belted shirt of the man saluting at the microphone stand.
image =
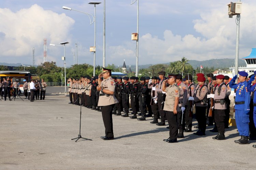
MULTIPOLYGON (((112 92, 115 92, 115 81, 111 77, 107 79, 103 79, 101 81, 100 86, 105 90, 110 90, 112 92)), ((98 106, 108 106, 108 105, 118 103, 114 94, 112 95, 110 94, 101 95, 101 94, 103 93, 100 91, 98 106)))

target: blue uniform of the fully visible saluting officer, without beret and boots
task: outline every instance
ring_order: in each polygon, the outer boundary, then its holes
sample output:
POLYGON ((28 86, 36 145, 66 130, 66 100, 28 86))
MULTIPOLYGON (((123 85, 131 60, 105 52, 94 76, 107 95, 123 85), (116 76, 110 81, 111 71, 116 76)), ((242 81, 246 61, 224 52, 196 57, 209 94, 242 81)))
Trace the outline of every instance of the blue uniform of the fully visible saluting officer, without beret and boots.
MULTIPOLYGON (((248 83, 249 84, 249 83, 248 83)), ((232 79, 229 87, 237 89, 235 99, 235 118, 240 136, 249 136, 249 112, 250 112, 250 92, 247 90, 247 81, 235 84, 232 79)))

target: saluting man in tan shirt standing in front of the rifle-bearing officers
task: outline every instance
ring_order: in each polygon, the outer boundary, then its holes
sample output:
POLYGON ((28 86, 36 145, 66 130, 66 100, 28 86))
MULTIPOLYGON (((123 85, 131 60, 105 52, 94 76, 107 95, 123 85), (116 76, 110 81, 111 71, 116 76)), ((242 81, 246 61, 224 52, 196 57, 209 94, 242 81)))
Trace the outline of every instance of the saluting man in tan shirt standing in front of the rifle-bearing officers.
POLYGON ((170 125, 170 136, 168 139, 164 139, 163 141, 168 143, 177 142, 178 135, 178 124, 177 124, 177 113, 180 111, 179 107, 179 98, 181 89, 176 84, 177 74, 169 74, 168 80, 163 82, 162 90, 166 92, 165 98, 165 106, 163 107, 163 111, 166 112, 167 121, 170 125), (170 85, 166 87, 166 83, 170 85))

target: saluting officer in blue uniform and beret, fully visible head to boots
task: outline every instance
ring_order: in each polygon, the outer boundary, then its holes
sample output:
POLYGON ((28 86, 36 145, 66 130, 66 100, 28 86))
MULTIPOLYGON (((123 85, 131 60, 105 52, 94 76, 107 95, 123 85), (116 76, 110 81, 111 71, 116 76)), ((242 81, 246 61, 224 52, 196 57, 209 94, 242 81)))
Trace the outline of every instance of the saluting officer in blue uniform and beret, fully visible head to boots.
MULTIPOLYGON (((248 73, 241 71, 239 74, 239 83, 235 83, 237 75, 235 75, 229 82, 229 87, 237 89, 235 98, 235 118, 237 123, 237 129, 241 136, 241 139, 235 140, 235 143, 248 144, 249 136, 249 112, 250 112, 250 92, 247 91, 247 76, 248 73)), ((250 82, 251 83, 251 82, 250 82)))

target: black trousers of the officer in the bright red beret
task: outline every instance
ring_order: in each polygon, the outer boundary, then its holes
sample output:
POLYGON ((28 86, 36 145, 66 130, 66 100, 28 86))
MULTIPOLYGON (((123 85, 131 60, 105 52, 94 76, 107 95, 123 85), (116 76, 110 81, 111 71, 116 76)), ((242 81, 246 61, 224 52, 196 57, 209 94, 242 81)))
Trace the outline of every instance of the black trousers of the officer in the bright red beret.
POLYGON ((197 117, 197 122, 198 122, 198 129, 201 132, 205 132, 206 129, 206 117, 205 117, 205 112, 206 112, 206 106, 196 106, 196 117, 197 117))

